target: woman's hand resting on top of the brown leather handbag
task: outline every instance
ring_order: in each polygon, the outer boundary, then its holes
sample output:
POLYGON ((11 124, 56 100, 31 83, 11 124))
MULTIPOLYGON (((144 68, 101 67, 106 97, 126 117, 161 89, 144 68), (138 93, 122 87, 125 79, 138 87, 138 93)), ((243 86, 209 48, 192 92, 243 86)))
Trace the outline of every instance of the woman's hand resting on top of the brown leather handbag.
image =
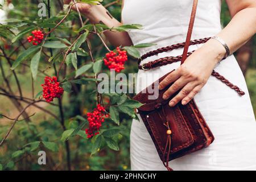
POLYGON ((203 47, 197 49, 189 56, 178 69, 170 73, 170 75, 160 82, 160 90, 174 82, 164 93, 163 99, 167 100, 172 94, 181 89, 172 98, 169 105, 175 106, 180 101, 183 105, 187 104, 207 83, 214 67, 224 55, 224 47, 216 40, 209 40, 203 47))

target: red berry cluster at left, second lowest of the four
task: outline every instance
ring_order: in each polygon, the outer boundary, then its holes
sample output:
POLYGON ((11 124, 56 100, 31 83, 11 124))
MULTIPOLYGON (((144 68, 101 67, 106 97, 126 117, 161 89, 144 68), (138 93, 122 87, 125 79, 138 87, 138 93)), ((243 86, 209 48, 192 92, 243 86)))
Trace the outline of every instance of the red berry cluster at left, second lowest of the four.
POLYGON ((43 97, 47 102, 52 102, 53 98, 60 98, 63 95, 64 89, 60 87, 60 83, 57 82, 57 77, 53 76, 44 78, 43 97))

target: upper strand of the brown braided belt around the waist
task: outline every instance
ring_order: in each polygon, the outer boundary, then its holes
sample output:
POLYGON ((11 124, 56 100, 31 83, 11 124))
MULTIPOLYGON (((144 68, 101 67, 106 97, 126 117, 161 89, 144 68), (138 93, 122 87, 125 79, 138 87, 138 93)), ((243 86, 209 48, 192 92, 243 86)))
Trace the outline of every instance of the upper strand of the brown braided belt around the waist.
MULTIPOLYGON (((203 44, 203 43, 206 43, 210 38, 203 38, 203 39, 195 39, 195 40, 191 40, 189 42, 189 46, 191 45, 196 45, 196 44, 203 44)), ((167 46, 167 47, 162 47, 162 48, 158 48, 154 51, 150 51, 150 52, 147 52, 145 53, 143 56, 141 56, 141 59, 139 59, 140 61, 146 59, 147 57, 150 57, 150 56, 154 56, 154 55, 158 55, 159 53, 162 53, 162 52, 168 52, 168 51, 172 51, 174 49, 178 49, 178 48, 183 48, 185 45, 185 42, 183 43, 177 43, 177 44, 174 44, 172 46, 167 46)))

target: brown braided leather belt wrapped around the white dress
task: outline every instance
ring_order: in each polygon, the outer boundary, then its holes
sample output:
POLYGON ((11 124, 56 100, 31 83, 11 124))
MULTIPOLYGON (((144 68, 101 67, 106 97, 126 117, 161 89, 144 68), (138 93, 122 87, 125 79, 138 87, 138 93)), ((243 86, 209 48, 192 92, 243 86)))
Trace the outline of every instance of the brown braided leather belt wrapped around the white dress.
MULTIPOLYGON (((203 44, 203 43, 207 42, 209 39, 210 38, 191 40, 189 42, 189 46, 196 45, 196 44, 203 44)), ((185 42, 174 44, 172 46, 158 48, 154 51, 147 52, 146 54, 141 56, 141 58, 138 60, 138 68, 142 69, 144 71, 147 71, 147 70, 152 69, 152 68, 162 67, 163 65, 172 64, 172 63, 176 63, 177 61, 181 61, 182 55, 180 55, 180 56, 167 56, 167 57, 163 57, 163 58, 160 58, 160 59, 157 59, 157 60, 154 60, 154 61, 150 61, 148 63, 144 63, 144 64, 141 65, 141 61, 146 59, 147 57, 158 55, 159 53, 162 53, 162 52, 167 52, 167 51, 172 51, 174 49, 183 48, 184 46, 185 46, 185 42)), ((194 51, 188 52, 187 56, 192 55, 193 52, 194 51)), ((238 94, 240 94, 240 96, 243 96, 245 94, 245 92, 243 92, 238 86, 232 84, 224 76, 221 76, 220 73, 213 70, 212 71, 212 76, 214 76, 218 80, 224 82, 224 84, 228 85, 231 89, 235 90, 238 94)))

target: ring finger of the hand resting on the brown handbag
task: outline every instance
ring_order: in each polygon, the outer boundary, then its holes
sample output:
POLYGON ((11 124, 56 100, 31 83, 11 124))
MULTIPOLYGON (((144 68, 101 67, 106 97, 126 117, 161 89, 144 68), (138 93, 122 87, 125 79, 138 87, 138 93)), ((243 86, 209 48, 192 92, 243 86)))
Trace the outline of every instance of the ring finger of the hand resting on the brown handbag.
POLYGON ((180 90, 180 92, 174 98, 172 98, 172 100, 169 102, 169 105, 175 106, 178 102, 187 97, 192 92, 192 90, 196 88, 197 85, 198 84, 195 81, 189 82, 183 87, 183 89, 180 90))

